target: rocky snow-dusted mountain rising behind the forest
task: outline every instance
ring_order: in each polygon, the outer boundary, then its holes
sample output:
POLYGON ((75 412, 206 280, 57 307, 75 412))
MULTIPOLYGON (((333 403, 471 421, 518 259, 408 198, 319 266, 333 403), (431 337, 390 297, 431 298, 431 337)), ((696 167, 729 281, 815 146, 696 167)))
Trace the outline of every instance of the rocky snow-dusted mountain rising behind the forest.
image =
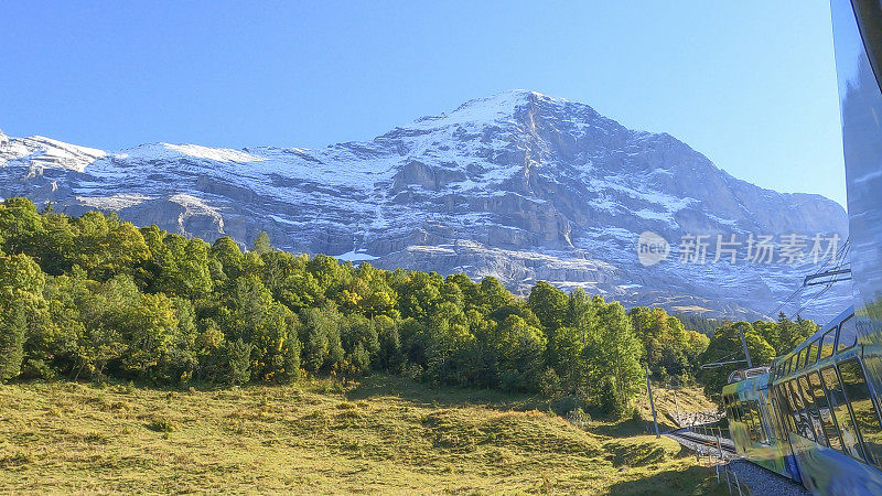
MULTIPOLYGON (((743 260, 750 235, 847 237, 841 206, 732 177, 666 133, 626 129, 588 105, 534 91, 467 101, 366 142, 321 150, 155 143, 101 151, 0 133, 0 196, 79 215, 384 268, 495 276, 519 292, 537 280, 626 304, 756 317, 810 267, 743 260), (637 238, 657 233, 666 260, 644 267, 637 238), (742 242, 712 263, 717 235, 742 242), (684 236, 707 235, 707 263, 684 263, 684 236)), ((848 288, 817 301, 821 317, 848 288)), ((799 302, 795 302, 797 305, 799 302)), ((795 309, 792 306, 792 309, 795 309)))

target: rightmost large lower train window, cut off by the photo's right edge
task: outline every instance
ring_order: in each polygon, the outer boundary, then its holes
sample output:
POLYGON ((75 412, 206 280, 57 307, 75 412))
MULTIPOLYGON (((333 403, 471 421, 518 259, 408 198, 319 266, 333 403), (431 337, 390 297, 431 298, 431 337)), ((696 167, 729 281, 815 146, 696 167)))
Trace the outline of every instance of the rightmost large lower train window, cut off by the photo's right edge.
POLYGON ((854 413, 858 432, 863 439, 863 452, 867 454, 867 461, 882 467, 882 428, 879 424, 879 416, 876 416, 870 389, 867 387, 861 364, 857 359, 842 362, 839 364, 839 377, 846 389, 846 398, 851 405, 851 412, 854 413))

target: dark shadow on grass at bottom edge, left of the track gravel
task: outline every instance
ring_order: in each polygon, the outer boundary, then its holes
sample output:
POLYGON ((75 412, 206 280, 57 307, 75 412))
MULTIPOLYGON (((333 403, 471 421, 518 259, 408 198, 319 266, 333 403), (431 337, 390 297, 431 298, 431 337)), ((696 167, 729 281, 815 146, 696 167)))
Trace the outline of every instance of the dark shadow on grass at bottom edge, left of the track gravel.
POLYGON ((635 481, 623 481, 610 487, 610 494, 624 495, 724 495, 725 483, 717 484, 713 472, 703 466, 665 471, 635 481))

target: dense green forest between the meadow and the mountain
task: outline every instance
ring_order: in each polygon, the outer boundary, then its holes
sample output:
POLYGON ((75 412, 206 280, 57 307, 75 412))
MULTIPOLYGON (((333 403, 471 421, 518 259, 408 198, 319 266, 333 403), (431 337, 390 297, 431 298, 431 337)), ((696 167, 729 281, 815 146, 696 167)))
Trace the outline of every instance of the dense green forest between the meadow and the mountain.
POLYGON ((243 250, 116 214, 0 204, 0 380, 225 386, 384 370, 622 416, 647 367, 662 384, 717 395, 729 369, 700 364, 740 358, 739 326, 754 364, 816 328, 783 315, 684 320, 546 282, 520 298, 494 278, 290 254, 266 233, 243 250))

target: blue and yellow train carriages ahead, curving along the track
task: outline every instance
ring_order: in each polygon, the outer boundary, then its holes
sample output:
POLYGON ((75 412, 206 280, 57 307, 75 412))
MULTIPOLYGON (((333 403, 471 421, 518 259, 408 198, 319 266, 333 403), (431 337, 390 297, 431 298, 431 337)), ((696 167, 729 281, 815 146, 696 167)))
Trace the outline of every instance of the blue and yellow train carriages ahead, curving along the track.
POLYGON ((882 494, 882 409, 849 308, 771 367, 738 370, 723 406, 739 454, 816 494, 882 494))

